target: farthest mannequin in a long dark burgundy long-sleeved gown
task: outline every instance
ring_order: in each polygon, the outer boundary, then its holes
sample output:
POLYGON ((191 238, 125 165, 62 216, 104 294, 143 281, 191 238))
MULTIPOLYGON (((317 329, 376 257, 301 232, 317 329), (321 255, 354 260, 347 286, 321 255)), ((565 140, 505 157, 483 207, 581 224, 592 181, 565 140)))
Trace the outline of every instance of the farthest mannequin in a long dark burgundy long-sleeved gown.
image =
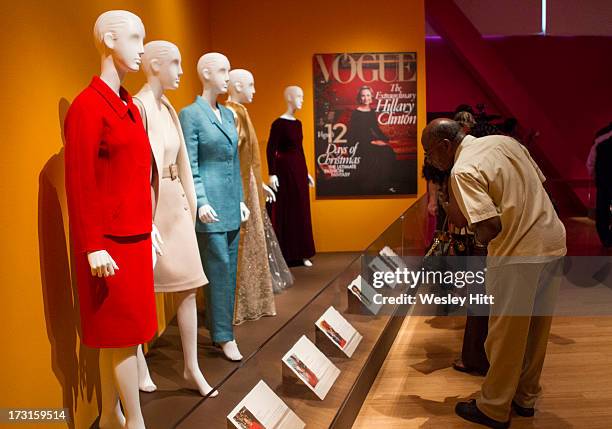
POLYGON ((295 112, 302 108, 304 91, 289 86, 284 97, 287 110, 272 123, 266 150, 269 184, 277 192, 272 224, 285 259, 310 267, 309 258, 315 254, 315 248, 308 187, 314 187, 314 180, 306 167, 302 123, 295 117, 295 112))

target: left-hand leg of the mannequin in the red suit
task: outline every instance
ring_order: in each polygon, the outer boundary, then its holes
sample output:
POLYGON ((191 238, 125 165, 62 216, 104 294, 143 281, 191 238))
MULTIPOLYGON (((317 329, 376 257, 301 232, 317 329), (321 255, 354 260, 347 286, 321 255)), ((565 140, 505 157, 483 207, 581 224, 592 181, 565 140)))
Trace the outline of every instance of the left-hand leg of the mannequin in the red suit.
POLYGON ((125 426, 125 417, 119 403, 119 392, 113 374, 113 350, 100 349, 100 390, 102 410, 100 429, 120 429, 125 426))

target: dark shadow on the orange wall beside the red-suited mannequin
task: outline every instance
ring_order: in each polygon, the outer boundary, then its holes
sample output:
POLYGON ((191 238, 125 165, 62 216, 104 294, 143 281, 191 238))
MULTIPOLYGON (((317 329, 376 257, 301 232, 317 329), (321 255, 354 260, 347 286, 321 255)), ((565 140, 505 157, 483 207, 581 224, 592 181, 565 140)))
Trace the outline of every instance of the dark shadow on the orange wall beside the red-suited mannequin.
MULTIPOLYGON (((64 119, 70 103, 61 98, 59 124, 64 141, 64 119)), ((76 425, 80 411, 84 418, 91 410, 94 391, 100 397, 98 351, 80 342, 80 319, 76 281, 70 269, 68 212, 64 187, 64 147, 53 155, 39 175, 38 240, 40 272, 45 306, 47 337, 51 345, 53 373, 62 386, 63 406, 70 412, 69 428, 76 425), (77 353, 78 351, 78 353, 77 353)), ((95 407, 95 405, 92 405, 95 407)), ((76 426, 75 426, 76 425, 76 426)))

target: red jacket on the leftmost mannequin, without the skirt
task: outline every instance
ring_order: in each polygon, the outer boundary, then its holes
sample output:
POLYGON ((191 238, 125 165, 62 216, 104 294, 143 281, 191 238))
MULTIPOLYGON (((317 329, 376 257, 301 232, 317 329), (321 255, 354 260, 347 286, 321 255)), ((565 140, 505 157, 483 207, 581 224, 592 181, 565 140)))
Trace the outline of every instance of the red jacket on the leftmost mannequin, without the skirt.
POLYGON ((95 76, 66 116, 66 194, 79 252, 103 250, 105 235, 151 232, 149 140, 132 97, 119 92, 95 76))

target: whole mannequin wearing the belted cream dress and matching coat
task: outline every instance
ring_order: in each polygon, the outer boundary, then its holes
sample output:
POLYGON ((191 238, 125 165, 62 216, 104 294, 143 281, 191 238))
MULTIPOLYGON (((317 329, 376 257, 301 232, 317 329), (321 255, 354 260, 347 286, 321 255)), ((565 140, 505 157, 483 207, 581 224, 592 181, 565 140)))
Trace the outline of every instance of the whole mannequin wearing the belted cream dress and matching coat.
MULTIPOLYGON (((179 86, 183 74, 181 54, 170 42, 153 41, 145 45, 142 61, 147 83, 134 101, 140 108, 157 171, 153 219, 165 237, 163 253, 154 270, 155 291, 175 293, 185 360, 183 377, 189 388, 206 396, 212 388, 198 364, 196 291, 208 280, 200 263, 194 230, 196 197, 187 148, 178 115, 164 96, 164 91, 179 86)), ((142 349, 138 354, 138 371, 140 389, 156 390, 142 349)), ((211 396, 216 395, 213 392, 211 396)))

